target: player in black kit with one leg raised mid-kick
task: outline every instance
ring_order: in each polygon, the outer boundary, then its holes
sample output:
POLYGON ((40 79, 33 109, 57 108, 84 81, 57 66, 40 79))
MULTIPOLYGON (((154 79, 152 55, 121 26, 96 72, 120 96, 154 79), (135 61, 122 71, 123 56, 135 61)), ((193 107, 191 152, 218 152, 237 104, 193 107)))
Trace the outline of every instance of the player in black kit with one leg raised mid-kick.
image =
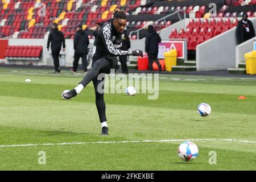
POLYGON ((140 50, 120 50, 122 47, 123 32, 126 30, 126 13, 115 9, 113 18, 113 22, 110 22, 101 28, 100 35, 97 39, 96 53, 93 55, 92 69, 85 75, 75 89, 63 94, 64 98, 71 99, 72 97, 77 96, 90 81, 93 81, 96 94, 96 106, 102 127, 102 135, 108 135, 108 125, 106 123, 106 106, 104 101, 104 76, 103 78, 98 78, 98 75, 100 73, 109 74, 110 69, 114 69, 117 64, 117 56, 143 56, 143 52, 140 50))

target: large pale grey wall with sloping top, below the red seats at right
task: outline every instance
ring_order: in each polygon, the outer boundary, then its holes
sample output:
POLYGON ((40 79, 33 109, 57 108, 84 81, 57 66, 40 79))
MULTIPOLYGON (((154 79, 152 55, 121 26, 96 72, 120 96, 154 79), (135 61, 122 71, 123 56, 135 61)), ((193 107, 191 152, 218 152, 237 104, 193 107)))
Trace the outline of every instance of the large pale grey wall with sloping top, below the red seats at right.
MULTIPOLYGON (((256 28, 256 18, 252 19, 256 28)), ((236 67, 236 28, 220 34, 196 47, 197 71, 236 67)))

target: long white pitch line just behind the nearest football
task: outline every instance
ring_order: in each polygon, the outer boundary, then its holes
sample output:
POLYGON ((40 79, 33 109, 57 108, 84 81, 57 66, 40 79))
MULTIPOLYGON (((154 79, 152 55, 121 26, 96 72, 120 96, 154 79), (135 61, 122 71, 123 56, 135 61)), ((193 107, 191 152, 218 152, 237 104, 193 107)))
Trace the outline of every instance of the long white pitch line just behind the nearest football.
POLYGON ((108 143, 163 143, 163 142, 183 142, 183 141, 225 141, 225 142, 242 142, 255 143, 256 141, 236 140, 236 139, 164 139, 164 140, 137 140, 137 141, 119 141, 119 142, 65 142, 65 143, 43 143, 43 144, 11 144, 0 146, 0 148, 7 147, 31 147, 31 146, 63 146, 63 145, 80 145, 80 144, 108 144, 108 143))

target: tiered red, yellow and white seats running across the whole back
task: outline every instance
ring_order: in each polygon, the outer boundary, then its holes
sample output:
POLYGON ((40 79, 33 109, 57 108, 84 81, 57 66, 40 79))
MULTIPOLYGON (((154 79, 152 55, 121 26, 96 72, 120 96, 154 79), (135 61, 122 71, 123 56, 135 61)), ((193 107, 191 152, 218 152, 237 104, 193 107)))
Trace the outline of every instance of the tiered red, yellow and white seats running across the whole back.
MULTIPOLYGON (((73 38, 75 26, 83 24, 83 28, 93 27, 97 22, 106 22, 112 18, 115 7, 126 10, 128 16, 127 32, 147 26, 163 16, 182 10, 191 18, 203 18, 208 11, 209 3, 216 3, 218 17, 241 17, 243 12, 255 16, 255 1, 152 1, 152 0, 114 0, 114 1, 42 1, 46 5, 46 15, 38 16, 42 8, 39 1, 10 0, 10 3, 0 3, 0 38, 32 38, 43 39, 50 30, 52 22, 59 23, 59 29, 64 32, 65 38, 73 38), (245 2, 248 4, 245 5, 245 2), (226 3, 226 4, 225 4, 226 3)), ((177 22, 177 17, 154 24, 156 30, 161 30, 177 22)), ((92 32, 89 38, 93 38, 92 32)), ((143 31, 139 38, 143 38, 143 31)), ((132 35, 136 39, 137 36, 132 35)))

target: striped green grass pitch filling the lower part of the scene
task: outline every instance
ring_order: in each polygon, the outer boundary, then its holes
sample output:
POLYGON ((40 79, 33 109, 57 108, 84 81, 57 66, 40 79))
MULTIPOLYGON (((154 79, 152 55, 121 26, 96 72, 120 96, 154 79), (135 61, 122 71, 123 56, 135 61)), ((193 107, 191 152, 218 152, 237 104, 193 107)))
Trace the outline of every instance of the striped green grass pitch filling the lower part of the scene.
POLYGON ((102 137, 92 83, 65 101, 82 75, 51 73, 0 68, 1 170, 256 170, 255 78, 160 75, 158 100, 105 94, 110 135, 102 137), (207 118, 197 114, 202 102, 212 107, 207 118), (183 162, 175 139, 199 139, 199 157, 183 162))

